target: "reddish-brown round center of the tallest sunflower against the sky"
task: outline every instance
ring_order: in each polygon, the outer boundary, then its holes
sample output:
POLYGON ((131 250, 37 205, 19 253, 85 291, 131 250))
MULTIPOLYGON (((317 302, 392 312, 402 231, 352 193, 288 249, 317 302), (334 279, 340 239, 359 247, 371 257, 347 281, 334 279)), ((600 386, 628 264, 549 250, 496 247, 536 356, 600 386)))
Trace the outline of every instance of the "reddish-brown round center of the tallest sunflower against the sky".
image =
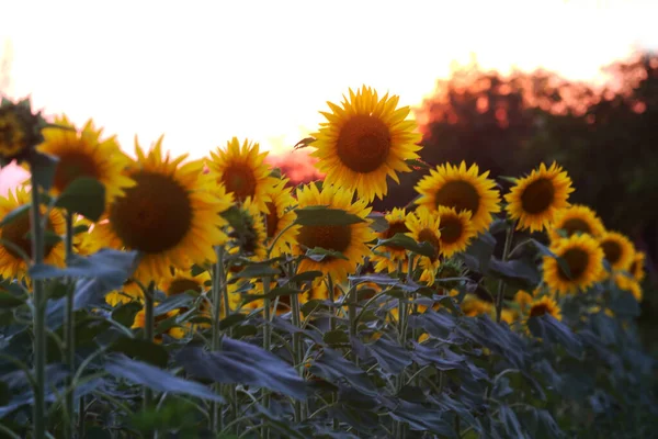
POLYGON ((355 172, 378 169, 388 158, 390 131, 379 117, 370 114, 352 116, 340 130, 338 157, 355 172))

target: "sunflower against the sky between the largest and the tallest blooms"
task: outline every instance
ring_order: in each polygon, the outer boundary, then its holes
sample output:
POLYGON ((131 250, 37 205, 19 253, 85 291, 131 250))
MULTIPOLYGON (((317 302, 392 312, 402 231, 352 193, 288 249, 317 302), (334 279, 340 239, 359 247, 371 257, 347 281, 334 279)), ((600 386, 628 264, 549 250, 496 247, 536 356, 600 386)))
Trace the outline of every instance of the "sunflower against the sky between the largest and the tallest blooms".
POLYGON ((227 143, 226 149, 211 153, 211 173, 217 182, 232 193, 238 202, 251 199, 258 209, 269 213, 268 202, 272 202, 271 188, 276 179, 270 177, 270 167, 264 162, 268 153, 259 151, 259 144, 247 139, 240 146, 237 137, 227 143))

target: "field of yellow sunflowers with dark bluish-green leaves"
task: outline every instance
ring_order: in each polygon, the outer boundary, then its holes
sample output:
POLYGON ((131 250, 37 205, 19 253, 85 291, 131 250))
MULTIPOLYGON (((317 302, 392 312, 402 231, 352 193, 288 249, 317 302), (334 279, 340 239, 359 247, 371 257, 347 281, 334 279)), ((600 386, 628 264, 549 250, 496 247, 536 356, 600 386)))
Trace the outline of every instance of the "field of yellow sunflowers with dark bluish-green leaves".
POLYGON ((326 177, 294 188, 247 139, 132 158, 4 99, 0 165, 31 178, 0 194, 0 432, 658 437, 644 255, 568 170, 430 166, 398 97, 328 105, 297 145, 326 177))

